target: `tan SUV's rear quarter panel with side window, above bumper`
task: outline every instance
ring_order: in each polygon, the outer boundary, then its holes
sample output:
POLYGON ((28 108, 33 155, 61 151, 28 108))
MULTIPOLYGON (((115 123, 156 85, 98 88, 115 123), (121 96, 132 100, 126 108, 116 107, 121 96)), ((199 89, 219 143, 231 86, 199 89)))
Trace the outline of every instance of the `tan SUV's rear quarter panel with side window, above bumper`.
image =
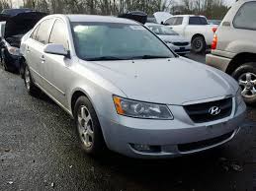
POLYGON ((231 55, 241 52, 256 53, 256 2, 234 7, 216 32, 217 49, 231 55), (236 11, 237 10, 237 11, 236 11), (231 18, 231 19, 229 19, 231 18))

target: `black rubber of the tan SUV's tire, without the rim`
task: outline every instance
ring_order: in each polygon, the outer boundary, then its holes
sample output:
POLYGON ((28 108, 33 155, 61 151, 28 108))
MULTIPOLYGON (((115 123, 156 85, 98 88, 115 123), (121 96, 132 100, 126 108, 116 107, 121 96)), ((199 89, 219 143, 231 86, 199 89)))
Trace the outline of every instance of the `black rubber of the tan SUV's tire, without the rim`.
MULTIPOLYGON (((238 82, 239 77, 245 73, 253 73, 256 75, 256 62, 248 62, 238 67, 233 73, 232 77, 238 82)), ((256 105, 256 96, 243 97, 247 104, 256 105)))

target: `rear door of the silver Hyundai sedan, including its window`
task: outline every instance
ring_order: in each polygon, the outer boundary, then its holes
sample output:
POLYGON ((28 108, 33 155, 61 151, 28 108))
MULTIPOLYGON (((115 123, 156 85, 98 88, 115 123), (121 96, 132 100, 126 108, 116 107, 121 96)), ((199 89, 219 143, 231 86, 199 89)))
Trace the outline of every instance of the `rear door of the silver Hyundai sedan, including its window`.
POLYGON ((36 84, 43 88, 43 47, 48 41, 50 28, 53 24, 52 19, 43 20, 35 29, 31 37, 26 42, 25 54, 26 61, 30 67, 32 77, 36 84))

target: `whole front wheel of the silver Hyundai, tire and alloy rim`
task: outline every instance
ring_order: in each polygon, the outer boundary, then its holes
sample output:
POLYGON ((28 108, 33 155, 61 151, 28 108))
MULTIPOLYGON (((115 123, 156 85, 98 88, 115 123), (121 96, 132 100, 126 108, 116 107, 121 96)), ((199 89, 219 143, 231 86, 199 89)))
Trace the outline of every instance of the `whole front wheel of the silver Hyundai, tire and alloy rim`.
POLYGON ((86 96, 80 96, 74 107, 76 133, 82 149, 90 156, 105 151, 105 142, 95 109, 86 96))

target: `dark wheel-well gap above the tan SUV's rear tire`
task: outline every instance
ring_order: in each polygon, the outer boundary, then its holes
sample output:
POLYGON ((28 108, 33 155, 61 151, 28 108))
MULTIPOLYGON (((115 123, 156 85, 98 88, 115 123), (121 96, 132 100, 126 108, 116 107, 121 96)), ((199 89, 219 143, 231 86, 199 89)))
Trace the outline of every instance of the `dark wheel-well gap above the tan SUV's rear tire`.
POLYGON ((256 62, 256 54, 249 52, 237 54, 228 64, 225 72, 231 75, 238 67, 247 62, 256 62))

